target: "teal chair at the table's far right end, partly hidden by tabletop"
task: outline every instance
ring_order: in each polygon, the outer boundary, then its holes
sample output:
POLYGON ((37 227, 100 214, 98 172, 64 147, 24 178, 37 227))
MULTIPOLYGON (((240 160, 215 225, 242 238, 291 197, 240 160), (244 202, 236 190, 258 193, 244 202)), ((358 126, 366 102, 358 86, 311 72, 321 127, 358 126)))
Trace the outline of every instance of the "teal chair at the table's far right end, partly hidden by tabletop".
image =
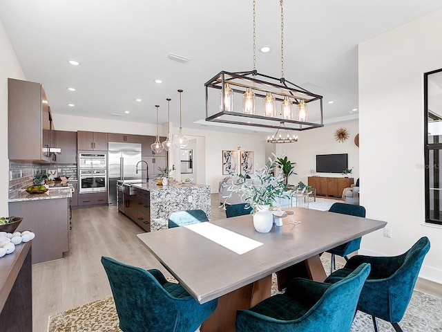
MULTIPOLYGON (((348 214, 350 216, 361 216, 361 217, 365 218, 365 208, 361 205, 334 203, 330 207, 329 212, 348 214)), ((361 237, 358 237, 358 239, 354 239, 354 240, 349 241, 347 243, 343 243, 340 246, 337 246, 335 248, 327 250, 327 252, 332 254, 332 264, 330 264, 330 273, 332 273, 333 270, 336 270, 335 255, 338 255, 340 257, 344 257, 345 261, 348 261, 347 256, 349 254, 351 254, 352 252, 359 250, 359 248, 361 247, 361 239, 362 239, 361 237)))

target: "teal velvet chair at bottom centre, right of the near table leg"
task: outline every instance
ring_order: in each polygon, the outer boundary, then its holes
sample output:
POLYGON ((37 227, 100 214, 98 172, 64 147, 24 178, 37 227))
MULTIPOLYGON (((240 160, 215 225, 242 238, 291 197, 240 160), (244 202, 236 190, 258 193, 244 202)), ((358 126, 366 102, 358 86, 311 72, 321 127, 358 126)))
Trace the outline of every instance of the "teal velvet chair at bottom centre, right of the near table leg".
POLYGON ((369 264, 361 264, 333 284, 335 287, 295 278, 284 294, 269 297, 249 310, 237 311, 235 331, 350 331, 369 270, 369 264))

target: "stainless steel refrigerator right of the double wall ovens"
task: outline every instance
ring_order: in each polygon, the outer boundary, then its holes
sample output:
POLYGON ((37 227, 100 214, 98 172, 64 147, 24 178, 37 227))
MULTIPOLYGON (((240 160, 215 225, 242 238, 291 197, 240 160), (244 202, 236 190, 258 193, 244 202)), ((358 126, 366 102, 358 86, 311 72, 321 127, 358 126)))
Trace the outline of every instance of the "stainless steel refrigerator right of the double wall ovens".
POLYGON ((141 159, 141 144, 108 143, 109 205, 117 204, 117 181, 141 181, 142 172, 140 170, 138 174, 135 172, 136 165, 141 159))

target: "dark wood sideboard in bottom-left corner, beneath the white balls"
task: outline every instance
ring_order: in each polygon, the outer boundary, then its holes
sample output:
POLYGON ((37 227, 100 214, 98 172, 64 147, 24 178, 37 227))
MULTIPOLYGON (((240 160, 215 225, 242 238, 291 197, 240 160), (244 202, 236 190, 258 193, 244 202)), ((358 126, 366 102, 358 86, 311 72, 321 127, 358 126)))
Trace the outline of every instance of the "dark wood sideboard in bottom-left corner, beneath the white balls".
POLYGON ((32 332, 31 242, 0 258, 1 332, 32 332))

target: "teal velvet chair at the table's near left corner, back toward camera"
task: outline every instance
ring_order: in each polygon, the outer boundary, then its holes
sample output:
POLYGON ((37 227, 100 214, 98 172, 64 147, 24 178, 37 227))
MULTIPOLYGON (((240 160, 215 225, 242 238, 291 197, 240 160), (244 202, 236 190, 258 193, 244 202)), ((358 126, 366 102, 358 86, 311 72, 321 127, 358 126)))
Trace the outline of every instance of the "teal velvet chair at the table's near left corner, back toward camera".
POLYGON ((199 304, 159 270, 144 270, 102 257, 108 275, 119 328, 124 332, 189 332, 198 329, 215 310, 217 299, 199 304))

